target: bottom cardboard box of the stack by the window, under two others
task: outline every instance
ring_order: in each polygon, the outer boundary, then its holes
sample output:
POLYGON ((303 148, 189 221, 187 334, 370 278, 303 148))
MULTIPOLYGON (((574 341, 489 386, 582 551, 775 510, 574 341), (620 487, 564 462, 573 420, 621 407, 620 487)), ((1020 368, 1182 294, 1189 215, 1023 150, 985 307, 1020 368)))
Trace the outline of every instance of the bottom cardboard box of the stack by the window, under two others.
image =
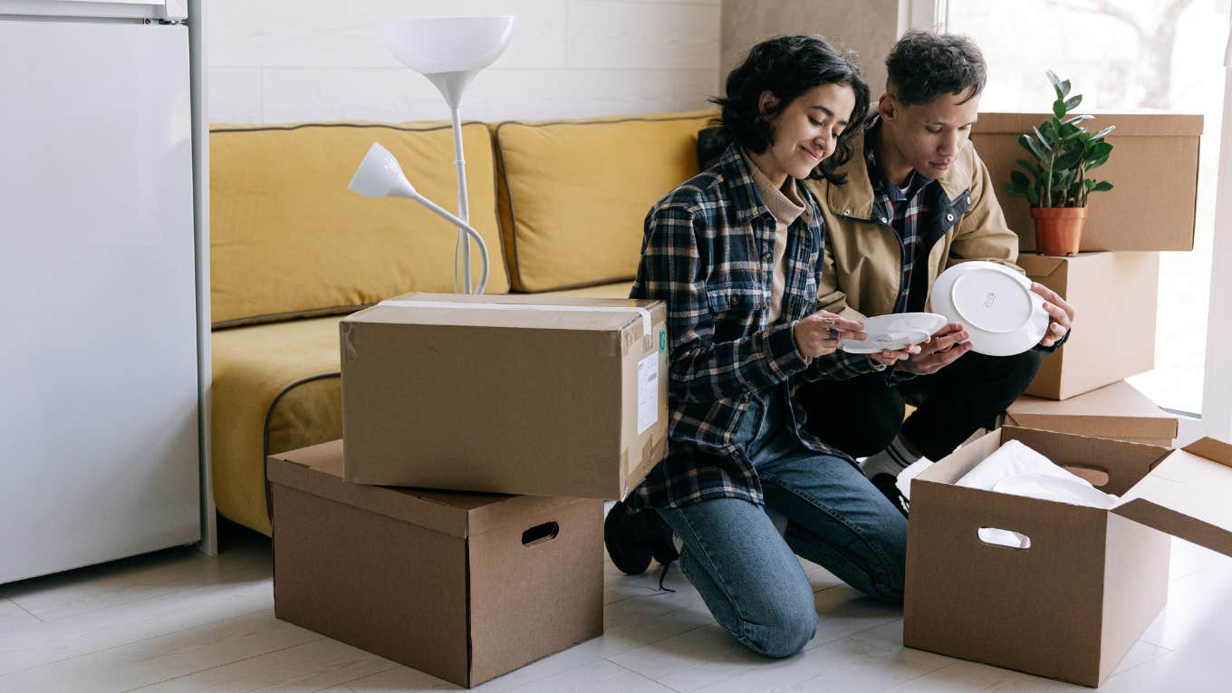
POLYGON ((1020 397, 1005 411, 1005 423, 1164 448, 1172 448, 1178 427, 1175 414, 1125 381, 1063 402, 1020 397))

